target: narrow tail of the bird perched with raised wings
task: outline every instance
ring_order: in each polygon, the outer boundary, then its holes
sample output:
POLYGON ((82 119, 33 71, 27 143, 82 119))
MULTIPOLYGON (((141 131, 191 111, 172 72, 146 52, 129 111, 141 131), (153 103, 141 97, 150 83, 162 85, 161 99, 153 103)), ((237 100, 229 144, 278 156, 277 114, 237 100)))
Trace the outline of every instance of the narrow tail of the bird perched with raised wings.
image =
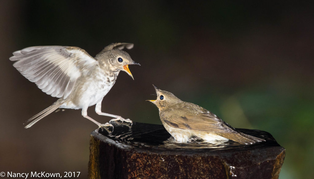
POLYGON ((34 125, 36 122, 44 118, 46 115, 52 113, 54 110, 58 109, 62 104, 64 103, 63 99, 59 99, 56 102, 54 102, 51 106, 47 107, 45 110, 41 111, 40 113, 34 115, 29 120, 26 120, 24 124, 30 122, 28 125, 25 126, 25 128, 29 128, 32 125, 34 125))

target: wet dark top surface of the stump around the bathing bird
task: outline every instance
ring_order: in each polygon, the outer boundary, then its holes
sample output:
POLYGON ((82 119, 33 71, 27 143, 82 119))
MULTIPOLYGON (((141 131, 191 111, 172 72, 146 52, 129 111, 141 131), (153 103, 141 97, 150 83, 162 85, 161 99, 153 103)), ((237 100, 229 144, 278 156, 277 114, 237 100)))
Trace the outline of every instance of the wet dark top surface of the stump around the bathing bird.
POLYGON ((280 153, 284 150, 273 136, 261 130, 237 129, 245 134, 255 136, 266 140, 265 142, 252 145, 243 145, 234 141, 217 141, 215 143, 205 141, 195 141, 191 143, 176 142, 174 138, 165 130, 163 125, 145 124, 134 122, 130 128, 127 125, 114 125, 111 134, 108 132, 95 130, 91 135, 99 138, 101 141, 111 143, 124 150, 132 149, 138 152, 156 152, 156 153, 185 153, 200 154, 206 153, 225 153, 235 151, 253 151, 271 149, 271 153, 280 153))

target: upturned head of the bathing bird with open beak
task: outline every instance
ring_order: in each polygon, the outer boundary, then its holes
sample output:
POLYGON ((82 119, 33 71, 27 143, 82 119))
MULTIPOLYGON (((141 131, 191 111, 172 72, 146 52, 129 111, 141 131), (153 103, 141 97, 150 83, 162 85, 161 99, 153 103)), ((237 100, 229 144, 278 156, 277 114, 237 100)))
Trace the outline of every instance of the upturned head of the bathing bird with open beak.
POLYGON ((163 91, 158 89, 154 84, 153 84, 156 94, 157 94, 157 99, 156 100, 146 100, 154 103, 158 107, 159 110, 162 110, 165 106, 167 105, 172 105, 176 104, 177 102, 180 102, 181 100, 177 98, 175 95, 168 91, 163 91))

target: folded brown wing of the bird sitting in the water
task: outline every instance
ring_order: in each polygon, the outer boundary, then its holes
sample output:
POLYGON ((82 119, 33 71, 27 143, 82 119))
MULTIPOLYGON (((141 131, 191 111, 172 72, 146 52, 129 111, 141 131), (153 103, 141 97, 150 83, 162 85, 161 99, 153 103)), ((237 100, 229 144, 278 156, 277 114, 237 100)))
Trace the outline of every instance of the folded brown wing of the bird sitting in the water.
POLYGON ((225 123, 212 112, 205 110, 200 106, 197 108, 193 106, 189 110, 178 106, 169 108, 168 110, 162 110, 160 112, 160 118, 174 128, 211 133, 236 133, 234 128, 225 123))

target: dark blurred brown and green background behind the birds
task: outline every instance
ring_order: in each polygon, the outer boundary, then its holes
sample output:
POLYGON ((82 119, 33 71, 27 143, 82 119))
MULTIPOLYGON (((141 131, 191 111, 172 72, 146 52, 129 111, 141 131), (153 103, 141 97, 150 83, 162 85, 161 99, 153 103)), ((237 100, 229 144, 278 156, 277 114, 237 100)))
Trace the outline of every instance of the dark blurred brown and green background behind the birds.
MULTIPOLYGON (((161 124, 155 84, 211 110, 236 128, 270 132, 286 149, 280 178, 312 178, 314 11, 301 2, 0 1, 0 171, 80 171, 87 177, 89 135, 80 110, 24 121, 53 98, 8 58, 29 46, 68 45, 95 56, 113 42, 141 66, 121 72, 102 110, 161 124)), ((100 122, 111 118, 89 116, 100 122)))

